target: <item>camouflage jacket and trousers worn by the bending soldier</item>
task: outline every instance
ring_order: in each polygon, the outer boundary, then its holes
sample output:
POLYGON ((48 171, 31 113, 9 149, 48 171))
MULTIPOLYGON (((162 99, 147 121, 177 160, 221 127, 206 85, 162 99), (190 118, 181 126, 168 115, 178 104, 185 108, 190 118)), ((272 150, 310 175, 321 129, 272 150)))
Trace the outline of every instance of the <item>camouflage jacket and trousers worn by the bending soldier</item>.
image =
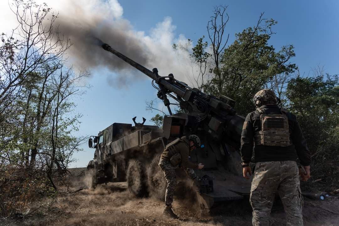
POLYGON ((188 177, 190 177, 192 180, 196 178, 196 174, 193 169, 197 169, 198 164, 189 161, 189 154, 189 142, 186 137, 181 137, 180 139, 175 140, 173 143, 168 144, 160 157, 159 167, 164 172, 167 181, 167 188, 165 193, 165 204, 167 206, 170 206, 173 203, 173 195, 175 192, 175 187, 177 185, 175 173, 176 168, 180 167, 184 169, 188 177), (173 166, 169 160, 176 153, 181 154, 182 160, 181 164, 179 164, 178 166, 173 166))

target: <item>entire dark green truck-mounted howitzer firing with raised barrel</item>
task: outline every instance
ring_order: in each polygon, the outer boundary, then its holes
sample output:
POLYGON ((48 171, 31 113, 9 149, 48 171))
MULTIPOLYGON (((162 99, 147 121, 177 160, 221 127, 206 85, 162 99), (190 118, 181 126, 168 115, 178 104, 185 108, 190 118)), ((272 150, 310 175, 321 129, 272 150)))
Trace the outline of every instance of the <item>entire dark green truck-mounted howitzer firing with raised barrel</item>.
POLYGON ((191 88, 173 74, 159 76, 156 68, 150 71, 108 44, 102 47, 152 79, 169 115, 164 116, 162 128, 144 125, 146 119, 136 123, 134 117, 135 126, 114 123, 98 136, 91 136, 88 145, 96 150, 87 172, 92 172, 93 185, 127 181, 129 190, 137 196, 149 194, 164 199, 166 180, 158 166, 160 154, 176 138, 197 134, 202 145, 191 152, 190 161, 204 165, 202 170, 195 170, 200 180, 190 187, 187 175, 176 169, 179 183, 175 197, 186 197, 188 191, 194 191, 199 207, 209 211, 215 202, 248 195, 251 182, 242 177, 239 155, 244 117, 236 114, 235 101, 191 88), (179 103, 182 112, 172 114, 169 99, 177 101, 174 104, 179 103))

